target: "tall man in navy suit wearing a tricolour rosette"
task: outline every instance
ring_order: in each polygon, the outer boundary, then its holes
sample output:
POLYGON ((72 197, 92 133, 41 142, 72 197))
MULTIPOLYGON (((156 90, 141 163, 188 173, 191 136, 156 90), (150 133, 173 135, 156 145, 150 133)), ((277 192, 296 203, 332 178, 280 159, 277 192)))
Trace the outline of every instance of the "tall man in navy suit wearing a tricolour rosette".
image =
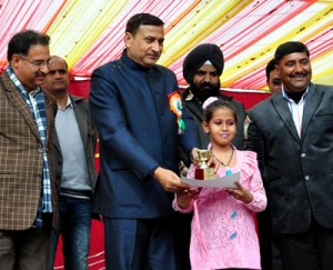
POLYGON ((171 203, 180 181, 178 144, 199 146, 175 74, 159 60, 163 21, 140 13, 119 60, 93 71, 91 114, 101 137, 94 210, 103 216, 107 269, 175 269, 171 203), (170 100, 170 102, 169 102, 170 100))

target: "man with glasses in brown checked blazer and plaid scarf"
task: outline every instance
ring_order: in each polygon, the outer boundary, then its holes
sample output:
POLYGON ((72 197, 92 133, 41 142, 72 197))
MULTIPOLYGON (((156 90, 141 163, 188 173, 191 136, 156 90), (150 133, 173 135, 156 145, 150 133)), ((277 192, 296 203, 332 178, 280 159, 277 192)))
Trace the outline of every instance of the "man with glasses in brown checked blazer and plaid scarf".
POLYGON ((57 223, 52 166, 56 101, 42 91, 50 38, 26 30, 8 44, 0 79, 0 268, 49 267, 57 223))

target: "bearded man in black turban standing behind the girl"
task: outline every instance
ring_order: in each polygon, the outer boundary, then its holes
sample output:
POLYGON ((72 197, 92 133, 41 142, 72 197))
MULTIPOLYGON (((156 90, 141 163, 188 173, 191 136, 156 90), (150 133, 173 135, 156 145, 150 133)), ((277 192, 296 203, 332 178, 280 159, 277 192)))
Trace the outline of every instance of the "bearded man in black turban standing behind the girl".
MULTIPOLYGON (((182 100, 199 128, 202 149, 206 149, 210 141, 209 134, 201 127, 203 121, 202 103, 210 97, 228 100, 235 107, 238 112, 238 133, 232 143, 238 149, 243 149, 245 110, 240 101, 221 93, 220 77, 223 68, 223 53, 218 46, 211 43, 195 47, 183 62, 183 77, 190 87, 182 93, 182 100)), ((181 157, 184 164, 188 166, 190 162, 189 158, 183 154, 181 157)))

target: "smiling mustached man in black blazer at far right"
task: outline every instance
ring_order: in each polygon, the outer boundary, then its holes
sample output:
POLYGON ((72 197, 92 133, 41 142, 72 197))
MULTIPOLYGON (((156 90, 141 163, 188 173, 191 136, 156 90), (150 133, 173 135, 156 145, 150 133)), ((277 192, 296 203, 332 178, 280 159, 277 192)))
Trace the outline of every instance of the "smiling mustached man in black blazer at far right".
POLYGON ((301 42, 275 51, 282 91, 249 111, 246 148, 265 171, 272 231, 283 269, 333 266, 333 88, 311 83, 301 42))

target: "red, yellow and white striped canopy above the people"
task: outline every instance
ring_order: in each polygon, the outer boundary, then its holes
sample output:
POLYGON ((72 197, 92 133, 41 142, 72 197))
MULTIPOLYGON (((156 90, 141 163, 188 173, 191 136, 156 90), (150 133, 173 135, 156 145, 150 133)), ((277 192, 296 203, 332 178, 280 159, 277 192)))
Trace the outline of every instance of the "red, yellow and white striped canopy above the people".
POLYGON ((186 53, 211 42, 224 53, 222 87, 265 90, 265 64, 289 40, 309 47, 313 80, 333 84, 333 0, 0 0, 0 71, 12 34, 36 29, 51 37, 51 54, 67 59, 73 79, 89 78, 121 54, 125 23, 139 12, 164 21, 159 63, 181 86, 186 53))

